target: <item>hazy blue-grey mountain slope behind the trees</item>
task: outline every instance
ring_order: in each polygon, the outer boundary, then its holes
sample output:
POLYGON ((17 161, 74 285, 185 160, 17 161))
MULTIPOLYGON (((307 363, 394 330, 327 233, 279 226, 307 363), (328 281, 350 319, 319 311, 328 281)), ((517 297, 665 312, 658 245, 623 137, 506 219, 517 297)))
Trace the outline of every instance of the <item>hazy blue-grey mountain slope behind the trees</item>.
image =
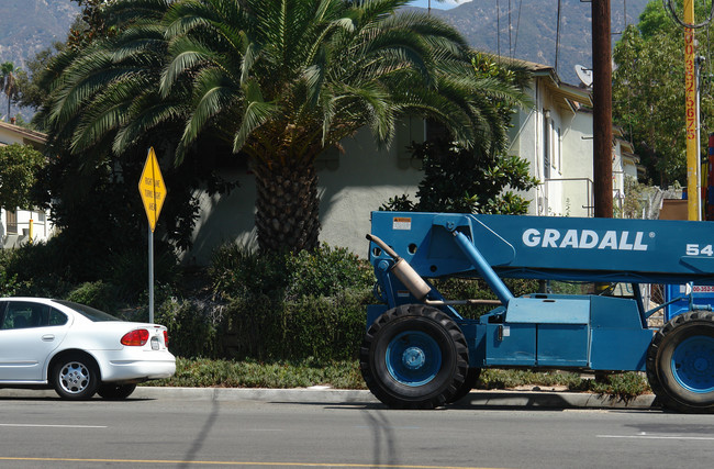
MULTIPOLYGON (((613 45, 616 33, 636 23, 647 3, 611 0, 613 45)), ((433 8, 431 14, 453 24, 473 48, 543 65, 556 65, 559 36, 558 75, 578 83, 574 65, 592 66, 590 9, 581 0, 472 0, 451 10, 433 8)), ((78 13, 79 7, 70 0, 0 0, 0 63, 10 60, 23 68, 25 60, 54 41, 65 41, 78 13)))

